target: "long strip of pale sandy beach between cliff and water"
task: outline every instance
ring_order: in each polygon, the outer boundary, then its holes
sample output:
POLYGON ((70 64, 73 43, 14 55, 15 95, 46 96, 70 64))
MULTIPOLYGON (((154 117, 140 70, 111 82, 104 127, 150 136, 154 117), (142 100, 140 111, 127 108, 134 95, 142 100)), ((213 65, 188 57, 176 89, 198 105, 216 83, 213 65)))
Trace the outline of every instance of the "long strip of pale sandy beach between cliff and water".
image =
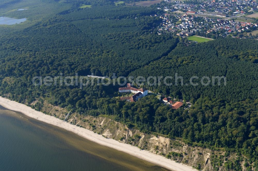
POLYGON ((66 129, 68 131, 72 131, 75 134, 78 134, 88 140, 91 140, 93 142, 96 142, 100 145, 107 146, 119 151, 123 151, 127 154, 130 154, 132 156, 138 157, 140 159, 149 161, 151 163, 154 163, 156 165, 162 166, 164 168, 170 169, 170 170, 175 170, 175 171, 190 171, 190 170, 196 170, 193 169, 190 166, 181 164, 181 163, 176 163, 173 160, 167 159, 163 156, 151 153, 146 150, 140 150, 139 148, 135 146, 131 146, 129 144, 124 144, 121 142, 118 142, 113 139, 108 139, 103 137, 102 135, 95 134, 94 132, 77 127, 75 125, 71 125, 67 122, 63 122, 62 120, 55 118, 53 116, 45 115, 42 112, 36 111, 26 105, 23 105, 21 103, 11 101, 9 99, 0 97, 0 105, 5 107, 6 109, 13 110, 13 111, 18 111, 22 112, 25 115, 35 118, 37 120, 46 122, 51 125, 58 126, 60 128, 66 129))

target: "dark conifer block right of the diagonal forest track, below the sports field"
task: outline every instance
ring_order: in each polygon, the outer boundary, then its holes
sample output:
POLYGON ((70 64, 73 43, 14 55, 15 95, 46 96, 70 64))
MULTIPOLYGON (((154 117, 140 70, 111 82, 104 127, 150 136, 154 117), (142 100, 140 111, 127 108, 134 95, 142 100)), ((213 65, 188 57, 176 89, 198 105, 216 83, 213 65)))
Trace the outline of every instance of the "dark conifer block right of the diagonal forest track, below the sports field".
MULTIPOLYGON (((258 96, 258 43, 256 40, 219 39, 202 44, 183 46, 179 44, 168 56, 135 70, 130 75, 171 76, 172 86, 162 83, 160 86, 151 86, 171 97, 184 99, 198 99, 200 96, 222 98, 229 102, 246 99, 256 99, 258 96), (183 77, 189 84, 192 76, 225 76, 227 85, 203 86, 175 85, 175 73, 183 77)), ((181 80, 179 80, 180 82, 181 80)), ((200 82, 196 79, 195 82, 200 82)), ((223 82, 222 82, 223 83, 223 82)), ((145 85, 148 87, 148 85, 145 85)))

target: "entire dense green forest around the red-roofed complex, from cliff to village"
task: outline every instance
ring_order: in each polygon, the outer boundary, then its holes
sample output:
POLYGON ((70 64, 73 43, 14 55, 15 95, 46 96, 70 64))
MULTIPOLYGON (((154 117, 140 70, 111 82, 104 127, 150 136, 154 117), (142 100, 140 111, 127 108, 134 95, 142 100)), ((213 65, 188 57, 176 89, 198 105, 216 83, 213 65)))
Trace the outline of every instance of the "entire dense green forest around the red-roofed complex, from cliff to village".
MULTIPOLYGON (((146 133, 178 138, 190 145, 242 154, 258 170, 258 42, 234 38, 186 45, 167 33, 158 35, 156 8, 114 1, 0 2, 1 14, 26 17, 21 25, 0 26, 0 95, 41 110, 46 100, 80 115, 105 116, 146 133), (37 5, 51 6, 49 12, 37 5), (51 5, 50 5, 51 4, 51 5), (79 5, 92 5, 79 8, 79 5), (152 16, 150 16, 152 15, 152 16), (224 76, 227 85, 142 87, 182 98, 192 107, 174 110, 155 96, 121 101, 119 85, 34 86, 34 76, 224 76)), ((170 80, 174 83, 175 80, 170 80)), ((196 80, 199 81, 199 80, 196 80)), ((241 170, 238 160, 228 170, 241 170)), ((214 165, 214 167, 216 167, 214 165)))

